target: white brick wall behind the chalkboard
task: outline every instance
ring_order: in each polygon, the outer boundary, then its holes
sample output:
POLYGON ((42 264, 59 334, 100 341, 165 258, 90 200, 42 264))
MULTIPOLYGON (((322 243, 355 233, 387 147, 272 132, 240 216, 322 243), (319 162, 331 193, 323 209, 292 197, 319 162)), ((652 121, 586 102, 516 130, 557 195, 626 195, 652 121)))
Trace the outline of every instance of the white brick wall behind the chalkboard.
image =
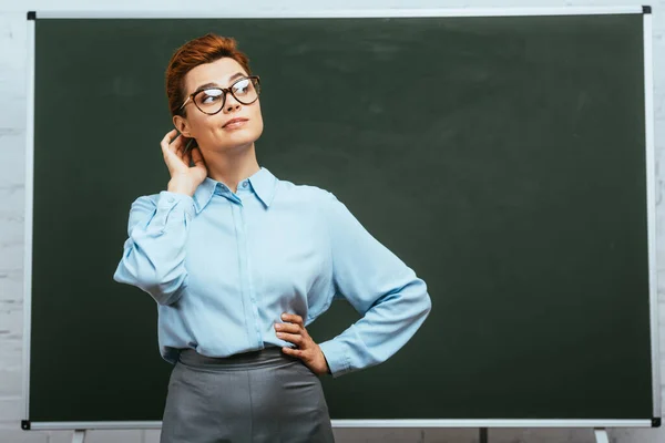
MULTIPOLYGON (((665 0, 644 1, 654 8, 654 107, 656 141, 657 189, 657 269, 659 299, 659 361, 665 405, 665 205, 661 195, 665 186, 665 0)), ((23 202, 24 202, 24 145, 25 145, 25 35, 28 10, 233 10, 234 6, 254 4, 265 9, 386 9, 399 8, 505 8, 505 7, 563 7, 563 6, 625 6, 643 4, 628 1, 587 0, 321 0, 275 2, 252 0, 233 2, 182 0, 0 0, 0 442, 60 443, 71 442, 68 431, 21 431, 23 411, 22 389, 22 330, 23 330, 23 202)), ((574 363, 574 362, 573 362, 574 363)), ((345 442, 474 442, 477 430, 336 430, 337 441, 345 442)), ((610 430, 610 440, 621 443, 665 442, 665 427, 659 430, 610 430)), ((146 443, 157 442, 158 431, 91 431, 89 443, 146 443)), ((593 442, 592 430, 490 430, 492 443, 582 443, 593 442)))

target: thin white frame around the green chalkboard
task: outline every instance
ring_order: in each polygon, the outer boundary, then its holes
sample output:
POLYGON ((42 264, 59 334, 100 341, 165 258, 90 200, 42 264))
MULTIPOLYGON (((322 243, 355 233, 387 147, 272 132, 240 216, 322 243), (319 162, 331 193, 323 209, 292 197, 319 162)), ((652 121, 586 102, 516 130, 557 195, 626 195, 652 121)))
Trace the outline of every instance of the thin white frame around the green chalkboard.
POLYGON ((134 11, 79 12, 43 11, 28 13, 28 112, 25 145, 25 218, 24 218, 24 330, 23 330, 23 399, 25 399, 22 427, 40 430, 83 429, 158 429, 161 422, 30 422, 30 337, 31 337, 31 284, 32 284, 32 220, 33 220, 33 153, 34 153, 34 24, 35 20, 57 19, 147 19, 147 18, 370 18, 370 17, 514 17, 514 16, 567 16, 638 13, 644 17, 644 73, 645 73, 645 125, 647 161, 647 220, 649 262, 649 319, 652 348, 653 416, 645 420, 332 420, 336 427, 604 427, 604 426, 657 426, 662 414, 658 359, 658 312, 656 287, 656 179, 653 111, 652 17, 649 7, 605 8, 539 8, 539 9, 413 9, 413 10, 345 10, 345 11, 134 11))

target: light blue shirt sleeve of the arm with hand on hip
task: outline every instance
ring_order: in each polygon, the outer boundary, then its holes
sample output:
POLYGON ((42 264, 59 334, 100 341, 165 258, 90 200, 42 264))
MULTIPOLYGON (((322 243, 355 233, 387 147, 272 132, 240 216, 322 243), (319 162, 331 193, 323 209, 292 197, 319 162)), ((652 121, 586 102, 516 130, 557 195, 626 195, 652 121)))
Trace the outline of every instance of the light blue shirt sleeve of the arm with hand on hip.
POLYGON ((428 317, 431 299, 424 281, 332 194, 328 193, 321 210, 329 233, 334 290, 362 315, 319 344, 332 377, 339 377, 395 354, 428 317))

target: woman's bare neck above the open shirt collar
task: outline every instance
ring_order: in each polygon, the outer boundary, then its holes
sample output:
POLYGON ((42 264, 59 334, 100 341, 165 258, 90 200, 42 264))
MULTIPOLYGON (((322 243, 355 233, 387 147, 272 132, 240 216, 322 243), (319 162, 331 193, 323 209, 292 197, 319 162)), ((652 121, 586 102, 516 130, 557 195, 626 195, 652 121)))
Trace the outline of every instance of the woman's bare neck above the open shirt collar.
POLYGON ((208 177, 224 183, 234 193, 237 192, 238 183, 260 169, 256 161, 254 143, 225 152, 203 151, 203 156, 208 177))

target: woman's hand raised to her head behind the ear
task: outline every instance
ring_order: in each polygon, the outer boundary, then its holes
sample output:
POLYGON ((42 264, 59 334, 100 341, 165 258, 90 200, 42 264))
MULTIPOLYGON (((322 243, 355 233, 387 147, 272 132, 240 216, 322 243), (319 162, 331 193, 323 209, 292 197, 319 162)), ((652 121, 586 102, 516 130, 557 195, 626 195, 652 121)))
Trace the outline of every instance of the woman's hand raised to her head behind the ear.
POLYGON ((164 163, 171 174, 167 190, 194 196, 194 192, 207 176, 207 168, 201 150, 195 147, 184 154, 190 138, 182 134, 173 138, 175 134, 176 130, 168 132, 161 142, 164 163), (194 166, 190 166, 192 162, 194 166))

